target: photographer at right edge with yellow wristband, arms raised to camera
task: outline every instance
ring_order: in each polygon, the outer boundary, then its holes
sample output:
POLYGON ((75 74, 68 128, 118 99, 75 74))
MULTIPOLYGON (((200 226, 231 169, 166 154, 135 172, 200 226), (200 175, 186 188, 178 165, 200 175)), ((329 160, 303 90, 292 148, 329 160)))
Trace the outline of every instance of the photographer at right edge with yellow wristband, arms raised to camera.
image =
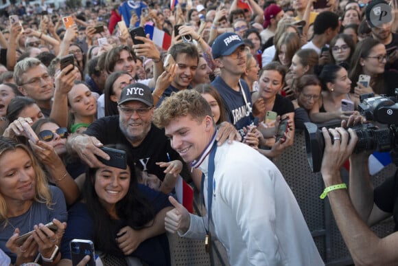
POLYGON ((325 191, 329 190, 324 194, 329 197, 336 223, 355 265, 396 265, 398 234, 394 232, 380 239, 369 226, 390 217, 391 214, 396 221, 395 202, 398 190, 395 180, 398 175, 396 173, 384 184, 373 189, 368 173, 369 153, 352 154, 358 137, 353 129, 344 129, 360 122, 360 116, 351 115, 348 122, 342 122, 342 127, 329 131, 323 128, 325 153, 321 173, 325 191), (329 133, 333 137, 333 144, 329 133), (345 184, 342 184, 340 177, 340 168, 348 158, 351 166, 349 193, 344 189, 345 184))

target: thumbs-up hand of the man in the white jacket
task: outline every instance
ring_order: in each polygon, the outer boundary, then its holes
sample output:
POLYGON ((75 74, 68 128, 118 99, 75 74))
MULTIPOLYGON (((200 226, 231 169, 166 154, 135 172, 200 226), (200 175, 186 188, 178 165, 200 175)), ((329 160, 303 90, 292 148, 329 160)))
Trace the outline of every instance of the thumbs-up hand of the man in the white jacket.
POLYGON ((173 210, 169 210, 165 217, 165 229, 175 234, 185 234, 191 224, 191 217, 187 209, 182 206, 174 197, 169 196, 169 201, 174 206, 173 210))

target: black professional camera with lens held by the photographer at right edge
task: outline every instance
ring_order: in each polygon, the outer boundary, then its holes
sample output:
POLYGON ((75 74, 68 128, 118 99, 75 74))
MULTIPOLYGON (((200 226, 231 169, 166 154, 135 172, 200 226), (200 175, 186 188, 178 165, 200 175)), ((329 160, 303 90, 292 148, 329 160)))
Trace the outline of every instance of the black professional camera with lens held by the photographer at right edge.
MULTIPOLYGON (((358 109, 368 121, 387 124, 386 128, 379 129, 373 124, 360 124, 352 126, 351 129, 358 135, 354 153, 361 151, 398 151, 398 89, 395 89, 395 97, 386 96, 373 97, 373 93, 363 94, 358 109)), ((320 171, 325 140, 323 133, 313 123, 305 124, 305 149, 307 159, 312 172, 320 171)), ((331 136, 333 143, 333 137, 331 136)), ((397 157, 393 158, 397 164, 397 157)))

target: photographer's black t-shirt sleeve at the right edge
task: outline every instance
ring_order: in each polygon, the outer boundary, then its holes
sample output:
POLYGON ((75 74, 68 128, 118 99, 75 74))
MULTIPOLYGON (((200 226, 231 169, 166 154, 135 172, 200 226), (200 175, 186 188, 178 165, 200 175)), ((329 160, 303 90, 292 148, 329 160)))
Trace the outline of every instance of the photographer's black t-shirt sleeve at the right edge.
POLYGON ((398 231, 398 170, 393 177, 389 177, 375 188, 373 200, 380 210, 393 214, 394 230, 398 231))

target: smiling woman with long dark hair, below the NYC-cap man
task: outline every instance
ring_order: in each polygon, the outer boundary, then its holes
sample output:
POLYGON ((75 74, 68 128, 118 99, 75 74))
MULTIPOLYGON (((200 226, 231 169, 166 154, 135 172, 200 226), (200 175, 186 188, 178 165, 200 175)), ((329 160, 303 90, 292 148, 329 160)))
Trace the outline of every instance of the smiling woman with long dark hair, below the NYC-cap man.
POLYGON ((126 151, 127 168, 90 168, 82 202, 69 210, 62 258, 70 258, 69 241, 89 239, 95 251, 119 260, 170 265, 164 219, 170 203, 161 192, 137 184, 132 155, 121 144, 107 147, 126 151))

